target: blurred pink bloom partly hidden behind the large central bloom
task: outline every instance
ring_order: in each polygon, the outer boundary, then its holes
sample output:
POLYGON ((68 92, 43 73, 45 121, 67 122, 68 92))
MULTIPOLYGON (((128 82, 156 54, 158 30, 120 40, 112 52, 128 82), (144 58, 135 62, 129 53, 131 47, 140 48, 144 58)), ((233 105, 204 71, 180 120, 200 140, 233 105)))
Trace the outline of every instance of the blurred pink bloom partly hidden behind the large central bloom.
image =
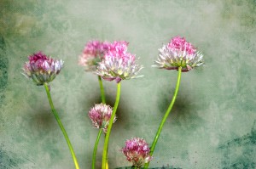
POLYGON ((80 55, 79 65, 83 65, 86 71, 95 71, 99 62, 104 59, 109 49, 109 42, 87 42, 83 54, 80 55))

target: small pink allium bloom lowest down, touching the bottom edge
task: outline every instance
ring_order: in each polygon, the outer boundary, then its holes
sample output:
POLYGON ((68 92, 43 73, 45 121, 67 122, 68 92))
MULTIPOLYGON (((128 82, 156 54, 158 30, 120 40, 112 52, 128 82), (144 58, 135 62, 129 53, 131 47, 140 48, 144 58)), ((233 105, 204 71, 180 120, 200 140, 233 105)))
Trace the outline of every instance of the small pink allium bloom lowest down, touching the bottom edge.
POLYGON ((127 161, 132 162, 133 166, 140 168, 144 163, 152 160, 149 155, 150 149, 143 138, 131 138, 126 140, 125 148, 122 149, 127 161))

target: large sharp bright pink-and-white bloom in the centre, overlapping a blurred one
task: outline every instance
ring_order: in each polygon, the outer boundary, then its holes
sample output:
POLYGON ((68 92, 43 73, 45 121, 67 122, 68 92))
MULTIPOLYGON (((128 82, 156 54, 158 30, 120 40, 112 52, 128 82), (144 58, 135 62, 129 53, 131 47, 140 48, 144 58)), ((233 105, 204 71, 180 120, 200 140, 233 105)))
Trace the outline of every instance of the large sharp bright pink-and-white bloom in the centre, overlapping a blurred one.
POLYGON ((97 66, 96 74, 116 82, 139 77, 137 73, 143 66, 137 65, 135 55, 127 52, 127 46, 125 41, 111 43, 105 59, 97 66))

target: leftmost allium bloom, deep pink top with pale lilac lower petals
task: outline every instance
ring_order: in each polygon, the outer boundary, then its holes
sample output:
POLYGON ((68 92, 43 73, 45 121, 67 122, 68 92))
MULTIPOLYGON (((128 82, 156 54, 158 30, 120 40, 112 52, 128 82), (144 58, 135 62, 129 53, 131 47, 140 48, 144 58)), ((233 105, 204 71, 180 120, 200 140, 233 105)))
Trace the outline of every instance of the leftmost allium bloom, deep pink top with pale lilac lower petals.
POLYGON ((28 57, 29 61, 25 63, 24 75, 37 85, 44 85, 44 82, 51 82, 58 75, 63 66, 62 60, 47 57, 42 52, 32 54, 28 57))

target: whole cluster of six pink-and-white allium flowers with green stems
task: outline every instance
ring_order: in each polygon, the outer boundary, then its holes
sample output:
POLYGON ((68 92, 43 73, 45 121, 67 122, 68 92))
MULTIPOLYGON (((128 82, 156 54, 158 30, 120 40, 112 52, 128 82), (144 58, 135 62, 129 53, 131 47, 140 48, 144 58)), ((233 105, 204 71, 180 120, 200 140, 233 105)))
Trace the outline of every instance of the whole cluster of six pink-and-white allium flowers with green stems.
MULTIPOLYGON (((102 104, 97 108, 95 106, 89 112, 91 121, 94 123, 95 127, 100 129, 93 150, 92 169, 95 169, 96 167, 96 152, 102 131, 105 134, 102 152, 102 169, 108 169, 108 141, 113 127, 113 122, 116 119, 116 111, 119 106, 121 82, 123 80, 139 77, 137 76, 137 73, 143 68, 143 66, 137 64, 135 54, 127 52, 127 46, 128 42, 125 41, 113 43, 93 41, 86 44, 84 52, 80 57, 80 65, 84 65, 85 70, 93 71, 98 76, 102 98, 102 104), (113 105, 113 110, 106 104, 102 78, 107 81, 115 81, 117 84, 116 99, 113 105), (105 105, 107 108, 104 107, 105 105), (105 111, 107 111, 107 113, 105 111)), ((165 70, 177 70, 176 88, 172 96, 172 101, 166 110, 166 114, 162 118, 162 121, 160 121, 160 126, 154 136, 154 140, 150 148, 143 138, 132 138, 131 140, 126 140, 125 148, 122 149, 122 152, 125 154, 127 161, 132 162, 133 168, 142 168, 143 165, 145 169, 148 168, 149 162, 152 160, 155 146, 160 137, 160 132, 177 98, 182 72, 192 70, 193 68, 203 64, 203 55, 198 52, 191 43, 187 42, 184 37, 173 37, 171 42, 167 45, 163 45, 163 47, 159 49, 159 52, 159 58, 154 61, 154 67, 165 70)), ((70 143, 67 132, 55 110, 49 90, 49 82, 53 81, 55 76, 59 74, 63 61, 49 58, 41 52, 32 54, 28 59, 29 61, 26 62, 23 68, 24 75, 31 78, 38 86, 44 85, 52 113, 55 115, 55 119, 61 127, 61 131, 67 141, 75 168, 79 169, 79 162, 73 151, 73 146, 70 143)))

